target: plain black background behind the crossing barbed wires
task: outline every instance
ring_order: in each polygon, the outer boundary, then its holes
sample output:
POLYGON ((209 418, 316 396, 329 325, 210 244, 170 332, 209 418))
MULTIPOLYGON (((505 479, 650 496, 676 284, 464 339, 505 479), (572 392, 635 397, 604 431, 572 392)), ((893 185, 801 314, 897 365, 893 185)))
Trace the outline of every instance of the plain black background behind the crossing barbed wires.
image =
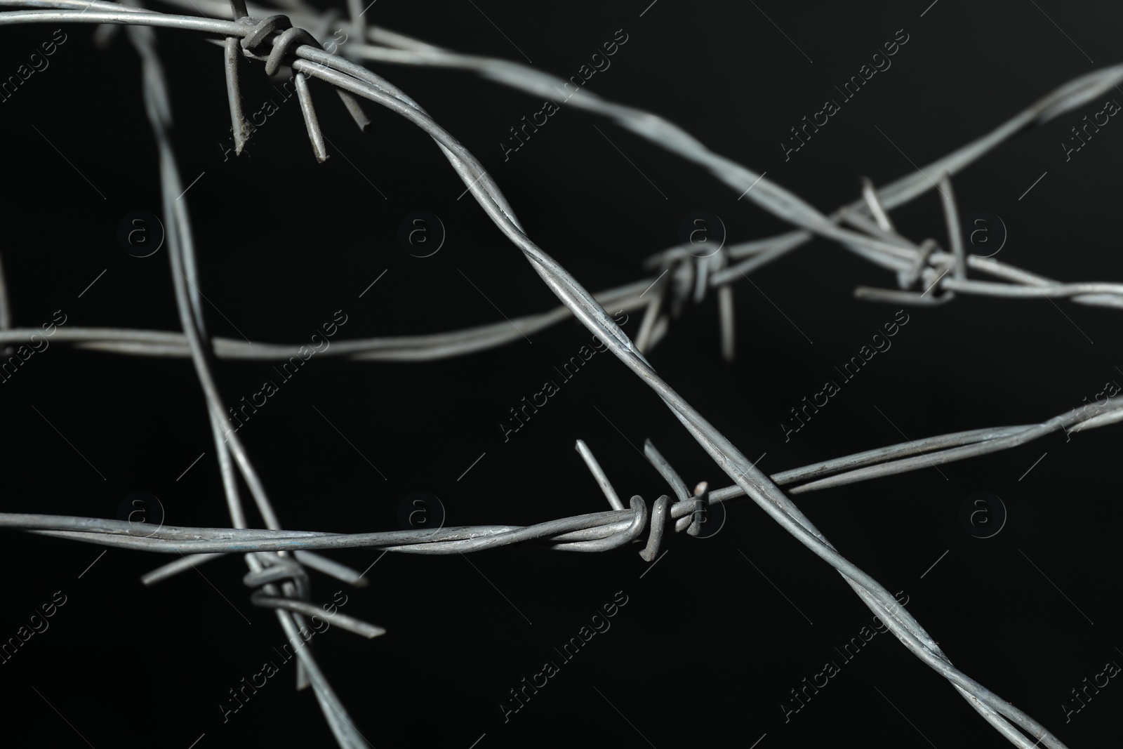
MULTIPOLYGON (((623 29, 628 42, 590 90, 668 118, 823 212, 855 200, 861 175, 885 184, 1066 81, 1119 62, 1121 11, 1108 2, 941 0, 925 12, 928 0, 743 8, 660 0, 645 12, 647 2, 381 0, 366 17, 463 52, 526 61, 521 49, 563 77, 623 29), (778 144, 788 128, 836 98, 833 86, 898 29, 909 42, 892 67, 785 162, 778 144)), ((56 27, 0 29, 0 73, 15 73, 56 27)), ((137 56, 124 37, 102 51, 90 42, 92 27, 62 28, 67 40, 49 67, 0 103, 0 243, 16 325, 37 327, 61 309, 67 326, 177 330, 166 248, 136 258, 116 239, 130 211, 161 212, 137 56)), ((502 320, 496 308, 515 318, 558 303, 471 195, 457 199, 464 185, 432 140, 374 104, 366 106, 374 125, 360 134, 313 82, 334 144, 327 163, 316 163, 289 102, 247 154, 223 161, 230 122, 219 48, 193 34, 157 34, 184 183, 202 175, 184 200, 212 335, 304 342, 340 309, 348 321, 337 339, 436 332, 502 320), (447 231, 428 258, 396 240, 402 217, 416 210, 437 214, 447 231)), ((720 216, 730 241, 786 228, 703 168, 572 108, 504 162, 500 141, 541 108, 538 98, 467 72, 374 68, 476 154, 531 238, 591 291, 647 276, 642 259, 677 244, 679 222, 694 210, 720 216)), ((257 64, 243 85, 247 112, 277 99, 257 64)), ((997 259, 1063 281, 1123 277, 1123 126, 1108 124, 1068 162, 1059 147, 1102 107, 1024 133, 955 175, 961 213, 986 210, 1006 225, 997 259)), ((903 235, 947 246, 935 193, 893 219, 903 235)), ((1043 421, 1092 401, 1105 382, 1123 382, 1117 310, 960 295, 909 309, 893 348, 785 442, 778 424, 788 410, 898 309, 856 300, 853 287, 892 287, 893 277, 824 240, 751 277, 756 287, 734 286, 736 363, 720 356, 713 294, 687 307, 650 360, 745 455, 766 454, 767 473, 897 444, 902 433, 1043 421)), ((623 329, 634 337, 639 322, 633 313, 623 329)), ((504 444, 499 420, 590 337, 569 320, 532 342, 431 363, 313 357, 239 435, 294 529, 395 529, 414 491, 440 499, 448 526, 608 509, 573 448, 578 438, 624 497, 650 503, 669 493, 633 449, 646 438, 687 484, 728 485, 657 396, 608 355, 504 444)), ((231 405, 275 378, 265 362, 223 360, 216 374, 231 405)), ((186 359, 54 341, 0 385, 0 398, 8 511, 115 518, 122 497, 143 491, 159 499, 168 523, 229 524, 186 359)), ((1054 433, 939 472, 797 495, 797 503, 844 556, 909 596, 909 610, 957 667, 1068 746, 1101 746, 1123 700, 1119 679, 1069 722, 1061 703, 1106 663, 1123 663, 1120 494, 1110 479, 1119 429, 1070 441, 1054 433), (978 491, 999 496, 1008 512, 992 538, 974 538, 959 520, 978 491)), ((244 485, 241 496, 252 508, 244 485)), ((367 573, 368 587, 344 591, 343 609, 386 634, 367 641, 335 630, 312 647, 375 747, 767 749, 850 736, 869 746, 1008 746, 893 638, 878 636, 843 663, 836 648, 871 612, 754 504, 732 504, 713 538, 679 535, 666 548, 654 568, 627 548, 505 548, 471 555, 471 564, 390 554, 367 573), (562 664, 554 648, 618 592, 628 603, 611 629, 562 664), (560 672, 504 723, 500 702, 546 660, 560 672), (829 660, 840 673, 785 723, 780 703, 829 660)), ((0 638, 13 637, 56 591, 67 596, 49 629, 0 666, 9 730, 60 747, 85 746, 84 738, 99 748, 186 748, 200 734, 200 749, 329 746, 314 695, 293 689, 291 665, 222 722, 217 705, 228 689, 285 642, 274 614, 250 604, 241 559, 145 588, 139 576, 170 557, 101 551, 3 535, 0 638)), ((378 552, 330 556, 364 569, 378 552)), ((313 573, 317 602, 343 587, 313 573)))

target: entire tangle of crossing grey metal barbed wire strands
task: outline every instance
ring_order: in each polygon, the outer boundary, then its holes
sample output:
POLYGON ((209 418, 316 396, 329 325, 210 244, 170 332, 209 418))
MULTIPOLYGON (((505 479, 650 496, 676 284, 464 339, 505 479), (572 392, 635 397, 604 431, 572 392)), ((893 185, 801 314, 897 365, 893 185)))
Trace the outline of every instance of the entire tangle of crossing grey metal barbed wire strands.
MULTIPOLYGON (((161 528, 156 532, 140 531, 118 521, 82 519, 72 517, 3 514, 0 527, 30 530, 74 540, 83 540, 107 546, 138 548, 180 554, 202 554, 189 560, 177 560, 148 576, 149 582, 162 579, 192 561, 199 563, 214 555, 244 552, 250 573, 247 585, 259 586, 252 600, 257 605, 274 608, 279 622, 286 634, 294 636, 301 625, 299 616, 314 608, 303 601, 307 594, 307 573, 301 565, 307 564, 341 578, 359 579, 354 570, 343 568, 322 557, 312 556, 308 549, 369 546, 387 550, 414 554, 451 554, 493 548, 495 546, 535 541, 551 548, 602 551, 629 544, 639 538, 650 527, 649 538, 642 556, 647 560, 657 557, 664 523, 667 517, 685 520, 676 523, 676 530, 697 531, 697 519, 702 503, 714 504, 736 496, 748 496, 764 509, 776 522, 795 536, 816 556, 833 566, 862 599, 869 609, 894 631, 902 643, 937 673, 944 676, 996 730, 1019 747, 1046 746, 1063 747, 1054 736, 1032 718, 975 682, 952 666, 920 623, 879 583, 846 559, 814 524, 779 490, 779 485, 796 484, 792 492, 813 491, 827 486, 862 481, 877 476, 911 471, 937 463, 958 460, 975 455, 1006 449, 1058 429, 1094 428, 1114 423, 1123 418, 1123 409, 1114 401, 1106 410, 1088 418, 1086 414, 1065 414, 1039 424, 1004 427, 989 430, 971 430, 929 438, 919 442, 897 445, 878 450, 837 458, 812 466, 805 466, 775 476, 766 476, 751 464, 738 448, 714 429, 695 409, 686 403, 651 367, 642 350, 650 349, 667 330, 667 312, 661 312, 664 302, 684 299, 682 290, 694 289, 694 299, 701 298, 710 286, 719 287, 723 346, 731 355, 732 312, 729 284, 738 275, 775 259, 812 236, 822 236, 840 243, 843 247, 869 259, 882 267, 897 273, 898 290, 859 287, 856 295, 874 301, 904 303, 944 303, 956 292, 977 293, 1004 298, 1029 298, 1038 294, 1049 298, 1070 298, 1085 304, 1106 307, 1123 305, 1123 284, 1075 283, 1065 284, 1014 268, 990 258, 966 256, 959 240, 958 214, 951 193, 950 175, 967 164, 982 157, 1004 139, 1015 133, 1048 121, 1069 111, 1107 89, 1123 82, 1123 65, 1116 65, 1076 79, 1046 95, 1006 124, 952 154, 901 177, 889 185, 874 190, 864 185, 862 199, 844 205, 827 216, 797 195, 778 184, 765 180, 763 175, 709 150, 700 141, 681 128, 661 118, 638 109, 622 107, 605 101, 588 91, 581 91, 569 103, 593 113, 609 117, 621 127, 651 139, 667 150, 678 154, 696 164, 706 166, 719 180, 741 194, 749 197, 764 209, 798 227, 798 230, 766 239, 732 246, 723 249, 716 259, 691 256, 688 247, 676 247, 652 258, 656 268, 666 274, 656 276, 657 294, 642 300, 651 284, 645 282, 628 284, 603 292, 594 298, 568 272, 539 248, 514 216, 506 199, 499 191, 472 154, 429 115, 383 77, 362 67, 355 62, 328 54, 319 47, 302 26, 312 26, 317 18, 299 0, 286 3, 294 10, 291 18, 272 16, 257 20, 261 11, 248 10, 236 3, 234 7, 216 9, 203 0, 216 15, 220 12, 236 20, 173 16, 138 10, 116 3, 93 0, 0 0, 0 7, 37 8, 39 10, 15 10, 0 13, 0 24, 38 22, 88 22, 126 25, 129 38, 141 55, 145 73, 145 106, 156 135, 161 157, 162 192, 167 222, 168 256, 175 287, 176 308, 183 334, 119 329, 66 329, 60 340, 76 341, 82 347, 111 350, 125 354, 158 356, 190 356, 200 384, 208 401, 212 433, 223 477, 228 509, 231 517, 229 529, 161 528), (296 19, 296 26, 292 19, 296 19), (155 52, 149 27, 193 31, 207 35, 221 45, 228 66, 228 93, 231 121, 235 126, 236 143, 244 145, 238 133, 244 117, 238 95, 238 66, 245 57, 264 62, 267 72, 275 72, 282 62, 291 64, 298 73, 298 94, 313 153, 323 161, 326 152, 322 135, 316 118, 305 76, 314 76, 334 84, 344 97, 356 124, 364 128, 369 120, 362 113, 354 97, 375 102, 407 118, 428 133, 441 149, 451 166, 472 192, 473 198, 487 212, 493 222, 508 239, 519 247, 535 271, 563 302, 563 308, 523 319, 528 326, 545 327, 568 314, 577 317, 582 323, 599 336, 613 354, 637 376, 646 382, 667 404, 687 431, 714 459, 719 468, 733 482, 733 486, 709 491, 700 485, 692 495, 669 464, 655 450, 646 446, 646 455, 664 475, 677 501, 672 503, 666 495, 656 501, 650 523, 646 503, 632 496, 630 509, 623 509, 606 476, 596 465, 592 453, 578 442, 578 450, 604 491, 611 511, 590 513, 575 518, 554 520, 529 527, 481 526, 469 528, 447 528, 438 531, 394 531, 375 533, 316 533, 307 531, 284 531, 274 512, 265 488, 253 467, 248 451, 231 433, 223 436, 221 402, 212 374, 212 360, 222 358, 283 358, 291 355, 293 346, 240 344, 222 339, 211 339, 203 322, 199 284, 194 263, 193 241, 186 201, 174 200, 182 194, 182 181, 175 165, 173 144, 168 131, 172 121, 171 108, 166 99, 166 85, 161 62, 155 52), (238 40, 235 47, 231 40, 238 40), (240 56, 238 53, 240 47, 240 56), (349 97, 349 98, 348 98, 349 97), (934 188, 934 176, 942 185, 946 221, 951 237, 951 249, 944 252, 934 241, 915 244, 898 235, 893 228, 888 211, 934 188), (842 225, 850 228, 844 228, 842 225), (739 259, 737 264, 730 261, 739 259), (968 270, 980 271, 1010 283, 983 282, 967 278, 968 270), (673 273, 669 273, 673 271, 673 273), (664 281, 664 276, 666 280, 664 281), (919 287, 913 289, 913 286, 919 287), (645 292, 638 293, 640 287, 645 292), (932 293, 933 289, 943 293, 932 293), (652 301, 654 300, 654 301, 652 301), (637 346, 617 326, 605 311, 604 304, 619 309, 639 309, 647 313, 641 326, 640 342, 637 346), (246 528, 245 513, 238 496, 234 471, 237 467, 246 479, 257 510, 265 520, 266 529, 246 528), (116 523, 116 524, 115 524, 116 523), (304 555, 304 556, 301 556, 304 555), (316 564, 313 564, 313 559, 316 564), (276 583, 284 581, 281 588, 276 583), (283 592, 283 594, 282 594, 283 592), (1030 742, 1031 737, 1034 739, 1030 742)), ((355 6, 355 3, 351 3, 355 6)), ((391 62, 410 65, 430 65, 475 70, 481 74, 532 93, 547 92, 554 83, 560 82, 520 63, 511 63, 472 55, 460 55, 432 45, 390 33, 376 27, 365 27, 355 16, 348 27, 360 38, 373 45, 350 45, 347 55, 363 60, 391 62)), ((646 280, 645 280, 646 281, 646 280)), ((2 289, 0 289, 2 291, 2 289)), ((7 302, 0 300, 0 309, 7 302)), ((7 312, 2 316, 7 319, 7 312)), ((0 320, 3 322, 3 320, 0 320)), ((0 325, 0 328, 4 326, 0 325)), ((399 337, 393 339, 367 339, 365 341, 337 341, 336 354, 353 358, 384 358, 399 360, 424 359, 453 356, 468 350, 480 350, 497 346, 511 339, 512 334, 502 326, 482 326, 466 331, 455 331, 438 336, 399 337), (343 345, 341 344, 347 344, 343 345)), ((10 344, 29 337, 28 330, 0 330, 0 344, 10 344)), ((344 621, 344 620, 340 620, 344 621)), ((374 637, 381 629, 358 621, 346 620, 355 631, 374 637)), ((300 651, 301 673, 299 679, 308 679, 316 688, 321 710, 341 747, 365 746, 364 739, 350 724, 343 704, 331 691, 319 666, 307 649, 300 651)))

